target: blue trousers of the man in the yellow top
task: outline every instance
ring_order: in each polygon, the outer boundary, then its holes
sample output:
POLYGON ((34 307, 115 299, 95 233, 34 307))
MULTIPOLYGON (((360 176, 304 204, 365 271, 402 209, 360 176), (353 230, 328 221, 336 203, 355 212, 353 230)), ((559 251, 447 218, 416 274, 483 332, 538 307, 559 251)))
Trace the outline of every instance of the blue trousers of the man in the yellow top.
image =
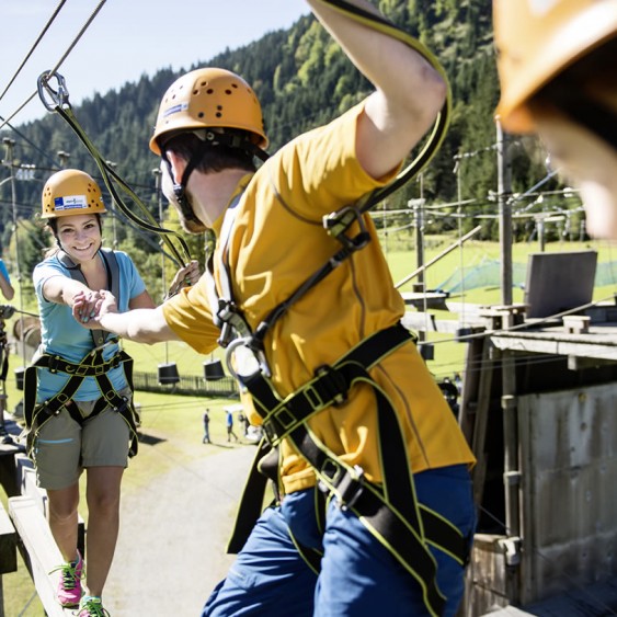
MULTIPOLYGON (((476 509, 465 466, 414 476, 418 501, 441 513, 471 541, 476 509)), ((331 501, 325 533, 315 519, 312 489, 286 495, 266 510, 227 578, 208 598, 203 617, 413 617, 429 615, 420 585, 350 511, 331 501), (317 575, 298 553, 289 530, 323 551, 317 575)), ((464 568, 438 549, 437 584, 453 617, 462 597, 464 568)))

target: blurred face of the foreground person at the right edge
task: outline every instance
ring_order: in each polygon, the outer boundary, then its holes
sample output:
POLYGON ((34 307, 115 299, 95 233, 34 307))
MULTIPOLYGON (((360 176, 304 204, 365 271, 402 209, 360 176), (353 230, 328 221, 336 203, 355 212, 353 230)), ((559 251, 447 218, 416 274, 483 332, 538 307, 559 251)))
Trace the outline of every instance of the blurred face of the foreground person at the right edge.
POLYGON ((555 111, 534 119, 552 165, 581 192, 590 236, 617 240, 617 150, 555 111))

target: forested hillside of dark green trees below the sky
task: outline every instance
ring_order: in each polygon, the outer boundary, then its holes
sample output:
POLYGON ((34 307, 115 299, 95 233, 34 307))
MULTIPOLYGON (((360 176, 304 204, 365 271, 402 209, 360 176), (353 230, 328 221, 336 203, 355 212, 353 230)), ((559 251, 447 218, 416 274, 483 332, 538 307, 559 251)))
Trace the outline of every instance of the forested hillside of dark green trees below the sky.
MULTIPOLYGON (((491 195, 496 191, 495 126, 493 113, 499 99, 499 83, 492 43, 490 2, 485 0, 382 0, 384 12, 407 32, 419 37, 441 59, 454 95, 454 114, 447 138, 422 183, 412 182, 388 199, 387 208, 407 207, 410 198, 422 196, 426 204, 475 199, 466 206, 464 230, 477 222, 473 216, 495 214, 491 195), (457 162, 459 164, 457 164, 457 162)), ((272 32, 245 47, 227 50, 214 58, 195 58, 193 68, 219 66, 244 77, 255 89, 264 111, 266 132, 275 151, 295 135, 349 108, 369 91, 368 82, 345 58, 330 36, 312 19, 301 18, 292 28, 272 32)), ((61 71, 60 71, 61 72, 61 71)), ((76 106, 73 112, 90 140, 105 160, 115 163, 116 172, 147 202, 158 218, 159 203, 152 170, 157 158, 148 149, 159 100, 178 77, 169 69, 142 76, 117 91, 96 94, 76 106)), ((95 79, 95 76, 92 76, 95 79)), ((70 92, 70 80, 67 76, 70 92)), ((99 170, 85 148, 58 114, 42 121, 4 130, 15 141, 13 158, 18 163, 36 165, 35 180, 18 180, 15 208, 11 192, 0 192, 0 239, 7 261, 13 259, 12 216, 16 213, 21 230, 20 264, 30 272, 41 256, 42 235, 28 222, 39 208, 39 195, 49 173, 60 165, 58 151, 70 153, 68 165, 81 168, 95 178, 99 170), (24 232, 27 230, 27 232, 24 232)), ((525 191, 546 175, 544 161, 532 161, 533 141, 511 146, 513 191, 525 191)), ((539 151, 536 148, 536 151, 539 151)), ((4 156, 4 155, 3 155, 4 156)), ((541 157, 538 157, 541 159, 541 157)), ((9 174, 0 170, 0 181, 9 174)), ((550 183, 545 187, 555 186, 550 183)), ((167 210, 167 204, 164 205, 167 210)), ((447 213, 455 212, 444 210, 447 213)), ((168 225, 168 222, 165 222, 168 225)), ((173 222, 169 222, 173 225, 173 222)), ((435 216, 436 231, 456 229, 453 216, 435 216)), ((118 248, 130 248, 141 270, 160 279, 158 238, 136 231, 118 220, 113 235, 118 248)), ((111 222, 106 240, 111 244, 111 222)), ((496 237, 496 222, 484 225, 485 238, 496 237)), ((199 240, 192 248, 198 252, 199 240)))

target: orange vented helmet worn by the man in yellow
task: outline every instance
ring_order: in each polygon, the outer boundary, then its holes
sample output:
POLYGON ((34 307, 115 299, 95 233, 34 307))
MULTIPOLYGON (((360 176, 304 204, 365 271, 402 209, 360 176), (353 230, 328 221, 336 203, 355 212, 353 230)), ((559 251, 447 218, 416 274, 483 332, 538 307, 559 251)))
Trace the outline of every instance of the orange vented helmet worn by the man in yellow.
POLYGON ((178 130, 241 128, 260 148, 267 147, 260 102, 253 89, 236 73, 215 68, 191 71, 164 93, 150 150, 161 153, 159 139, 178 130))

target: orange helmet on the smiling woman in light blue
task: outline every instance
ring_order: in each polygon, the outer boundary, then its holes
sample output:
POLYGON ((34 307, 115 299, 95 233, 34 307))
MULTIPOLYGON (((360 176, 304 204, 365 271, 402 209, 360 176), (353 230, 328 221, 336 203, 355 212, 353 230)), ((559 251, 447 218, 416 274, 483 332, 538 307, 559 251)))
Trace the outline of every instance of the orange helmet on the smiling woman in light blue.
POLYGON ((41 218, 107 212, 96 182, 77 169, 64 169, 52 175, 43 187, 41 201, 41 218))

